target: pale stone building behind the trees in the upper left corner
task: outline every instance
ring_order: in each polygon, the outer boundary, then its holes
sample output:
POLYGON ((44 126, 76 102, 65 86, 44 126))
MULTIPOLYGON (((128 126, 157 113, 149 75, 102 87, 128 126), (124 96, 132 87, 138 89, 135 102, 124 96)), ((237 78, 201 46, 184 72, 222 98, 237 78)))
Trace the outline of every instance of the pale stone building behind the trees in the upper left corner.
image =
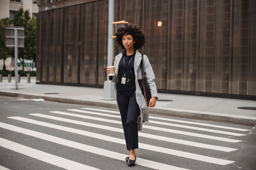
MULTIPOLYGON (((37 17, 38 6, 37 0, 0 0, 0 19, 2 18, 13 18, 15 11, 19 8, 29 10, 30 16, 37 17)), ((10 67, 12 58, 9 57, 5 61, 6 69, 13 70, 14 64, 10 67)), ((0 60, 0 70, 3 68, 3 61, 0 60)))

